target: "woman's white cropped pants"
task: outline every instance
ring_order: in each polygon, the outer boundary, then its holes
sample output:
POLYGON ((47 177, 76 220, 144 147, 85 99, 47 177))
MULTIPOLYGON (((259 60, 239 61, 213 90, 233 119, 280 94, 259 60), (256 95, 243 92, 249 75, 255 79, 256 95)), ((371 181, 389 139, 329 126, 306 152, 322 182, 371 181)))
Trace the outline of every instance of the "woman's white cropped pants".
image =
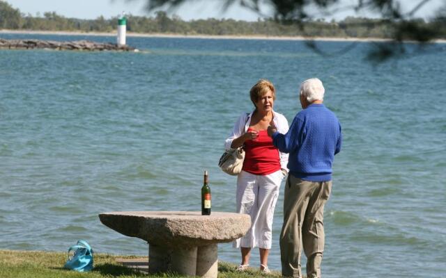
POLYGON ((233 247, 271 249, 272 218, 283 174, 279 170, 266 176, 242 171, 237 178, 237 212, 251 216, 251 228, 233 247))

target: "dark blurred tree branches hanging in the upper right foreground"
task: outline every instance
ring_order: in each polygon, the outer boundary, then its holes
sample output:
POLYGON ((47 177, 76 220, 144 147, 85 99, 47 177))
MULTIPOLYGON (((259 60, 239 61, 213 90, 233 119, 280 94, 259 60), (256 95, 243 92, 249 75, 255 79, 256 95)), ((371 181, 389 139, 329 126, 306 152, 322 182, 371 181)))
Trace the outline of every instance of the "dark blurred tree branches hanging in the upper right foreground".
MULTIPOLYGON (((137 1, 137 0, 132 0, 137 1)), ((195 0, 142 0, 146 1, 148 11, 167 9, 174 10, 181 6, 192 3, 195 0)), ((354 0, 349 6, 342 6, 342 0, 214 0, 213 3, 220 3, 224 8, 231 5, 238 5, 240 8, 247 8, 265 17, 261 10, 262 5, 272 8, 273 18, 281 24, 295 24, 300 32, 311 38, 314 34, 314 28, 308 22, 314 22, 314 15, 330 16, 341 11, 353 10, 355 13, 369 11, 380 14, 382 20, 375 22, 379 28, 388 33, 391 43, 376 44, 376 47, 369 53, 369 58, 375 61, 387 60, 395 56, 403 56, 407 53, 403 42, 411 40, 419 42, 419 50, 422 50, 424 44, 438 38, 443 33, 446 26, 446 3, 443 8, 433 15, 431 24, 424 24, 423 20, 417 19, 418 10, 426 6, 431 0, 411 1, 415 6, 411 10, 404 11, 401 1, 396 0, 354 0), (392 28, 385 30, 386 25, 392 28)), ((406 3, 407 5, 407 3, 406 3)), ((346 31, 347 35, 353 37, 362 37, 362 35, 371 35, 370 31, 376 28, 369 28, 371 22, 357 21, 350 22, 348 25, 351 30, 346 31), (355 32, 355 33, 353 33, 355 32), (361 34, 358 34, 360 32, 361 34)), ((326 26, 324 26, 326 27, 326 26)), ((325 54, 317 47, 317 44, 309 40, 309 47, 321 54, 325 54)), ((346 49, 349 49, 346 47, 346 49)))

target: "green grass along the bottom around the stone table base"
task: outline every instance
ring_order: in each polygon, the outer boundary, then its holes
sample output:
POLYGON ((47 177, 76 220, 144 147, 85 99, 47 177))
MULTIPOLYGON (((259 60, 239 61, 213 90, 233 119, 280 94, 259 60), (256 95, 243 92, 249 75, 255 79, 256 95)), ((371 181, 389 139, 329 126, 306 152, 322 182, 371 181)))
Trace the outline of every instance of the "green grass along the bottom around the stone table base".
MULTIPOLYGON (((41 251, 10 251, 0 250, 0 277, 1 278, 59 278, 59 277, 184 277, 174 273, 146 275, 130 268, 125 268, 120 263, 116 263, 117 258, 135 259, 140 256, 113 256, 109 254, 95 254, 94 268, 91 272, 75 272, 63 269, 67 254, 59 252, 41 251)), ((247 270, 246 272, 236 272, 236 265, 231 263, 218 263, 218 277, 280 277, 279 272, 272 272, 271 275, 262 275, 258 270, 247 270)))

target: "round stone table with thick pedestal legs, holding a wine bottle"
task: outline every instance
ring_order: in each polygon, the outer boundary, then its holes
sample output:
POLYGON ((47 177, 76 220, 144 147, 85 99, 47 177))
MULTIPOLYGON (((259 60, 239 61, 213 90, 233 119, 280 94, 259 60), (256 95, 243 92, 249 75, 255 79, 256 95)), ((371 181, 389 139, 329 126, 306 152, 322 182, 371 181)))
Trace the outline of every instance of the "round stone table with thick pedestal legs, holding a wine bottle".
POLYGON ((247 214, 190 211, 100 213, 105 226, 148 242, 148 271, 217 277, 217 243, 229 243, 251 227, 247 214))

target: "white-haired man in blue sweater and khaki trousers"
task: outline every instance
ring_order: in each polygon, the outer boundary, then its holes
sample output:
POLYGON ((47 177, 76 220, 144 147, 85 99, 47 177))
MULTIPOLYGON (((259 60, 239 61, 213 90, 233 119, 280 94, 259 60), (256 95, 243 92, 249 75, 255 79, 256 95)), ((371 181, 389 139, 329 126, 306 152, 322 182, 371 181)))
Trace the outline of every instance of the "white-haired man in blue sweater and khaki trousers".
POLYGON ((323 103, 319 79, 300 84, 300 104, 286 134, 268 127, 280 152, 289 153, 289 177, 284 195, 284 224, 280 234, 282 275, 302 277, 301 244, 307 256, 307 277, 321 277, 324 248, 323 207, 332 188, 334 154, 341 150, 341 124, 323 103))

